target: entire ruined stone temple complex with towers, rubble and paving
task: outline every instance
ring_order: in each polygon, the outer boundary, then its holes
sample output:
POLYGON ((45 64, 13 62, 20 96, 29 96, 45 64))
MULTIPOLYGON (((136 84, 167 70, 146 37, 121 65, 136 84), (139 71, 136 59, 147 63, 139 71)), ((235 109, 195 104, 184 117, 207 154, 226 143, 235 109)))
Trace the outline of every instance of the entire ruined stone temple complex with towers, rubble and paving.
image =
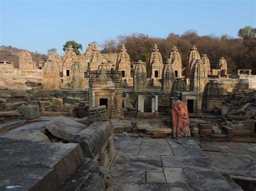
POLYGON ((256 75, 125 45, 0 60, 0 190, 255 190, 256 75))

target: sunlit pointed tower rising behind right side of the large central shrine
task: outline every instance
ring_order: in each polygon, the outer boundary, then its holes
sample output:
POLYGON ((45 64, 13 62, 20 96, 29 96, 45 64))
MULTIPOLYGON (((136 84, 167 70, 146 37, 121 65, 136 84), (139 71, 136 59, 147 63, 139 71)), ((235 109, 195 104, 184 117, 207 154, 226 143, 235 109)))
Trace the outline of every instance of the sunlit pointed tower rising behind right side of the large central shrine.
POLYGON ((124 44, 117 56, 117 69, 122 72, 122 77, 131 77, 130 56, 126 51, 124 44))

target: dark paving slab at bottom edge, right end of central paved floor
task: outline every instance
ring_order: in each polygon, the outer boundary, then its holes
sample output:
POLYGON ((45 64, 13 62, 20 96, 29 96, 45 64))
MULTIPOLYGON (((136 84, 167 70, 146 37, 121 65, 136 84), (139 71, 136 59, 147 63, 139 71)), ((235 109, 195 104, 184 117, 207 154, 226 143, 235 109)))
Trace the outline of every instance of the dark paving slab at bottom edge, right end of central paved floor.
POLYGON ((211 169, 185 168, 184 173, 190 187, 194 190, 232 190, 220 172, 211 169))

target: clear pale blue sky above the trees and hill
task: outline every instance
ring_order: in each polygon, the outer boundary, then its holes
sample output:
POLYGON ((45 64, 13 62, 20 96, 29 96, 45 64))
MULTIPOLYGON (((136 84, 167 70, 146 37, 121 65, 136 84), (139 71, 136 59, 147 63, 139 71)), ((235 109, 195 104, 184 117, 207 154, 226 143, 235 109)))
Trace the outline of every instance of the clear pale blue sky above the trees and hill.
POLYGON ((132 33, 166 38, 169 33, 228 34, 255 27, 255 0, 0 0, 0 45, 46 53, 68 40, 83 45, 132 33))

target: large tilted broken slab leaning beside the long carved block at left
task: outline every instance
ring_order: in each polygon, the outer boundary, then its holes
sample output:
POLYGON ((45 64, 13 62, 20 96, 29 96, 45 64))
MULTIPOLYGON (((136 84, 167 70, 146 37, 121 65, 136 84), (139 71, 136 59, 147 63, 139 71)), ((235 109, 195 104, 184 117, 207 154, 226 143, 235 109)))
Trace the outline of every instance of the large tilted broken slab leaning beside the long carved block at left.
POLYGON ((46 123, 46 129, 48 129, 53 136, 64 140, 69 140, 85 128, 87 128, 86 125, 63 116, 56 117, 46 123))

